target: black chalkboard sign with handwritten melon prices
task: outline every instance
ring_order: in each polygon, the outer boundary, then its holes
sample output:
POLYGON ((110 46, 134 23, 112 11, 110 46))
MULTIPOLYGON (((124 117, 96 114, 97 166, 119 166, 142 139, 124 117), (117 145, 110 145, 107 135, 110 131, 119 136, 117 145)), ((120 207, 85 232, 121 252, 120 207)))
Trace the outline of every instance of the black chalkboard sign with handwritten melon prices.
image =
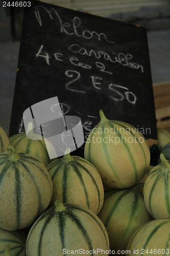
POLYGON ((63 114, 81 119, 85 141, 101 109, 157 139, 145 28, 41 2, 27 10, 9 135, 24 131, 27 108, 56 96, 63 114))

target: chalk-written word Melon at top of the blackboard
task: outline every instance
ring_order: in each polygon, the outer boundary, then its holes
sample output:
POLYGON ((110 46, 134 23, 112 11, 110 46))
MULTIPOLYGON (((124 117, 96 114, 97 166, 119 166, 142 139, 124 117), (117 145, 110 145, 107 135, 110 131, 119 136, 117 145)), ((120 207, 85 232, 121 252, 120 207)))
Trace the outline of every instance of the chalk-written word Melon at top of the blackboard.
POLYGON ((83 37, 84 39, 96 39, 98 41, 106 40, 109 44, 114 44, 114 41, 108 40, 105 33, 98 33, 96 31, 90 31, 90 30, 82 30, 81 26, 81 19, 79 17, 74 17, 72 19, 71 23, 65 22, 63 23, 60 15, 55 10, 55 8, 52 8, 51 10, 48 10, 44 6, 36 6, 35 8, 35 16, 38 20, 38 23, 40 26, 42 26, 42 19, 40 15, 40 9, 44 10, 51 19, 54 19, 54 17, 58 18, 59 26, 60 26, 60 32, 65 33, 66 35, 76 35, 77 37, 83 37))

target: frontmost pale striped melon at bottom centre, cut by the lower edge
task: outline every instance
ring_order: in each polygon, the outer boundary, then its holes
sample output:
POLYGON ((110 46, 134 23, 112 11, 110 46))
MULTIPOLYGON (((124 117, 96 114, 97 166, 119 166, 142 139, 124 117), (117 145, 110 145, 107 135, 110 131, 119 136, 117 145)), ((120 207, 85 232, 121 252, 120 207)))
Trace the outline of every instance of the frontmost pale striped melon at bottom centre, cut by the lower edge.
POLYGON ((93 250, 97 249, 99 256, 103 255, 102 250, 109 254, 108 234, 102 221, 83 206, 59 201, 33 224, 26 243, 27 256, 63 256, 66 252, 95 255, 93 250))

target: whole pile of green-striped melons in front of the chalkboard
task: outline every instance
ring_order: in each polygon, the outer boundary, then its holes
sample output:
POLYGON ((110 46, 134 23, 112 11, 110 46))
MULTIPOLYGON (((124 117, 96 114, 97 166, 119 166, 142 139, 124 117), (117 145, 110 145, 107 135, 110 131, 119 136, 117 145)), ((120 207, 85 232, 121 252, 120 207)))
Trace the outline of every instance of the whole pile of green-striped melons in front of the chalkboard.
POLYGON ((0 127, 0 255, 169 255, 170 133, 151 166, 142 134, 99 114, 84 158, 0 127))

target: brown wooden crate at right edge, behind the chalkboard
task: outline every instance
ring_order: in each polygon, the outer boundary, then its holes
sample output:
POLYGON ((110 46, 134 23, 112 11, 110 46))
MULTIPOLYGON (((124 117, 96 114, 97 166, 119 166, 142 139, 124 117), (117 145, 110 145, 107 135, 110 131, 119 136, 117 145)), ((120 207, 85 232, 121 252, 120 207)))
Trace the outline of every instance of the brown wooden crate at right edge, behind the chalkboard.
POLYGON ((154 84, 157 127, 170 131, 170 82, 154 84))

